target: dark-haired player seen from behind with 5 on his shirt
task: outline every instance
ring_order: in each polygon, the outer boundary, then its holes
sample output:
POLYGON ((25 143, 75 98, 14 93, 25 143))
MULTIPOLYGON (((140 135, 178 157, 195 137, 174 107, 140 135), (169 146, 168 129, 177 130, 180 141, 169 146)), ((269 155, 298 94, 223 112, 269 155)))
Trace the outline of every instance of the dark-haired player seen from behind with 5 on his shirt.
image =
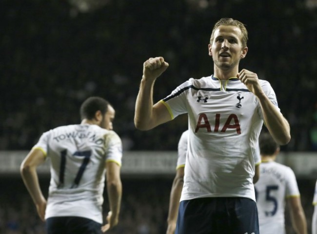
POLYGON ((306 218, 293 170, 275 162, 279 146, 270 134, 260 134, 259 148, 262 163, 255 189, 260 234, 285 234, 285 200, 296 233, 307 234, 306 218))

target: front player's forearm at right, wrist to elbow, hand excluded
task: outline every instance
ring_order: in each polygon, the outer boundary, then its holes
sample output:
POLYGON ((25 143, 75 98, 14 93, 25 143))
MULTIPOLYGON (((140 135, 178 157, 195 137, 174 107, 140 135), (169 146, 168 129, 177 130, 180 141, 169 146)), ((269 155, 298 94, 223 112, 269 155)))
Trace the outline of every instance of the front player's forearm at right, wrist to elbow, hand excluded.
POLYGON ((290 126, 269 98, 263 93, 258 96, 264 123, 277 144, 284 145, 291 140, 290 126))

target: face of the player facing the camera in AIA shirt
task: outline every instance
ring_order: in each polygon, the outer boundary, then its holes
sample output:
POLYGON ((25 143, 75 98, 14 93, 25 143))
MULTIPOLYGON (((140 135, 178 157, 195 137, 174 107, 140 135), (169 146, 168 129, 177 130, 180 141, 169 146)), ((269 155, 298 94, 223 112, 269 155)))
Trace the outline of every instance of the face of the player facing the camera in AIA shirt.
POLYGON ((209 55, 221 70, 230 70, 244 58, 248 48, 242 48, 242 33, 236 26, 219 26, 214 32, 213 41, 209 44, 209 55))

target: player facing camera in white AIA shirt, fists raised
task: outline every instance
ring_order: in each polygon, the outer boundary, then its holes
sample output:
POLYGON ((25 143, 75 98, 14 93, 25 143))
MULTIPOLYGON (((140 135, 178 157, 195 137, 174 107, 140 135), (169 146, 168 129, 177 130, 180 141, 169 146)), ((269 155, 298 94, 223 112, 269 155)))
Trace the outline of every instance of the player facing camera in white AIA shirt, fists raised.
POLYGON ((168 68, 163 57, 143 63, 134 122, 149 130, 188 114, 188 151, 176 234, 258 234, 253 177, 263 122, 278 144, 290 126, 268 81, 239 70, 248 52, 243 23, 221 18, 208 45, 214 74, 190 78, 153 103, 154 83, 168 68))

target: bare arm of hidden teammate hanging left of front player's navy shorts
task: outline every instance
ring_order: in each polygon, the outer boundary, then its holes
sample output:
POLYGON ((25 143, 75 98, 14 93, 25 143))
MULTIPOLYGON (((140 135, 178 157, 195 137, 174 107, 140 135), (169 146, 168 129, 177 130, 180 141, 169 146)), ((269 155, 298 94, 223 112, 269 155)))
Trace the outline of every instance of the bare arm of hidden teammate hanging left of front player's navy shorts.
POLYGON ((183 188, 183 184, 184 184, 184 167, 181 166, 177 169, 176 176, 172 184, 168 216, 167 216, 166 234, 175 233, 176 221, 178 216, 179 199, 180 199, 181 191, 183 188))

